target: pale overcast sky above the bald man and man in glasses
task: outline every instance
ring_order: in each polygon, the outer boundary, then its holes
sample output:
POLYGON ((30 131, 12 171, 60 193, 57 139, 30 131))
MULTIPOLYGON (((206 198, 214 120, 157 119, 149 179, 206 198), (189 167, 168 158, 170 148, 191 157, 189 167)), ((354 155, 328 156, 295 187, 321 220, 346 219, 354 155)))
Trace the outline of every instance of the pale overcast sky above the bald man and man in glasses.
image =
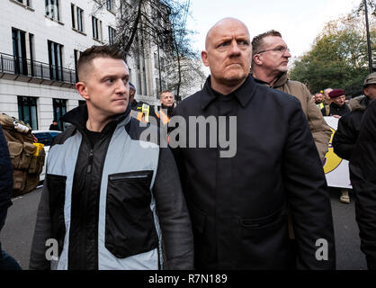
POLYGON ((251 39, 271 29, 282 33, 292 57, 309 51, 325 23, 351 12, 362 0, 191 0, 187 27, 197 31, 193 48, 204 49, 210 27, 225 17, 246 23, 251 39))

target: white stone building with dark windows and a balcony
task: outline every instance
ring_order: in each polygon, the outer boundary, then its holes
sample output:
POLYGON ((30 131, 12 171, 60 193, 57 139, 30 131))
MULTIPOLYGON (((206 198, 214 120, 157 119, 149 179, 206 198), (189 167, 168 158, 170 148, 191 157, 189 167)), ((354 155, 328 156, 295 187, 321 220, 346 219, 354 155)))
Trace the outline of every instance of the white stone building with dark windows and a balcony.
MULTIPOLYGON (((1 0, 0 112, 48 130, 53 119, 85 103, 76 92, 76 61, 92 45, 112 43, 119 0, 1 0)), ((136 99, 158 105, 154 59, 129 59, 136 99)), ((59 123, 61 125, 61 123, 59 123)))

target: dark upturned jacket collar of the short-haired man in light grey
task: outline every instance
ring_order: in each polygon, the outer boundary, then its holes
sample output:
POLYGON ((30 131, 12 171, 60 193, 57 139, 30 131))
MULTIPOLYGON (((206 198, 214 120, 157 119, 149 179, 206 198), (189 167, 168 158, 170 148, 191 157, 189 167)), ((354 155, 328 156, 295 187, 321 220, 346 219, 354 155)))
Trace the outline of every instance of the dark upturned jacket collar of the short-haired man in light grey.
MULTIPOLYGON (((123 121, 126 118, 130 118, 130 104, 127 107, 127 110, 119 115, 113 117, 113 120, 107 123, 103 128, 102 133, 106 134, 111 131, 118 123, 123 121)), ((71 123, 76 126, 78 130, 85 133, 86 121, 88 119, 87 106, 79 105, 75 109, 64 114, 60 120, 63 122, 71 123)))

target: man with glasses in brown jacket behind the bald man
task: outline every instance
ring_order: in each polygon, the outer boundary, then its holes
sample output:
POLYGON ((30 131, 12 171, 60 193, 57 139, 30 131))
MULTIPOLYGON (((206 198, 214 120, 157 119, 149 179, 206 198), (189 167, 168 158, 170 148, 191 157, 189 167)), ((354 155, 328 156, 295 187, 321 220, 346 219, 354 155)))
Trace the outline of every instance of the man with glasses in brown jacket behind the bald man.
POLYGON ((269 85, 298 98, 309 121, 309 129, 318 148, 321 160, 327 154, 332 131, 312 100, 306 85, 287 77, 287 64, 291 54, 278 31, 267 31, 252 40, 252 73, 256 82, 269 85))

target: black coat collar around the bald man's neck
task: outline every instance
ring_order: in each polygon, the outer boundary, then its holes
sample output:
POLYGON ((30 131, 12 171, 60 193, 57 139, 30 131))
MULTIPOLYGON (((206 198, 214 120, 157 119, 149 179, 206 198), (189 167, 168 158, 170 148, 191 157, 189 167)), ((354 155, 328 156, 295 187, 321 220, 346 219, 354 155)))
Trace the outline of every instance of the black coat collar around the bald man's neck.
MULTIPOLYGON (((210 76, 206 79, 205 85, 202 89, 203 94, 201 95, 201 109, 206 109, 209 104, 217 99, 219 96, 223 95, 211 88, 210 76)), ((246 77, 246 81, 237 88, 234 92, 226 95, 234 95, 237 101, 244 108, 252 99, 255 94, 255 80, 251 75, 246 77)))

